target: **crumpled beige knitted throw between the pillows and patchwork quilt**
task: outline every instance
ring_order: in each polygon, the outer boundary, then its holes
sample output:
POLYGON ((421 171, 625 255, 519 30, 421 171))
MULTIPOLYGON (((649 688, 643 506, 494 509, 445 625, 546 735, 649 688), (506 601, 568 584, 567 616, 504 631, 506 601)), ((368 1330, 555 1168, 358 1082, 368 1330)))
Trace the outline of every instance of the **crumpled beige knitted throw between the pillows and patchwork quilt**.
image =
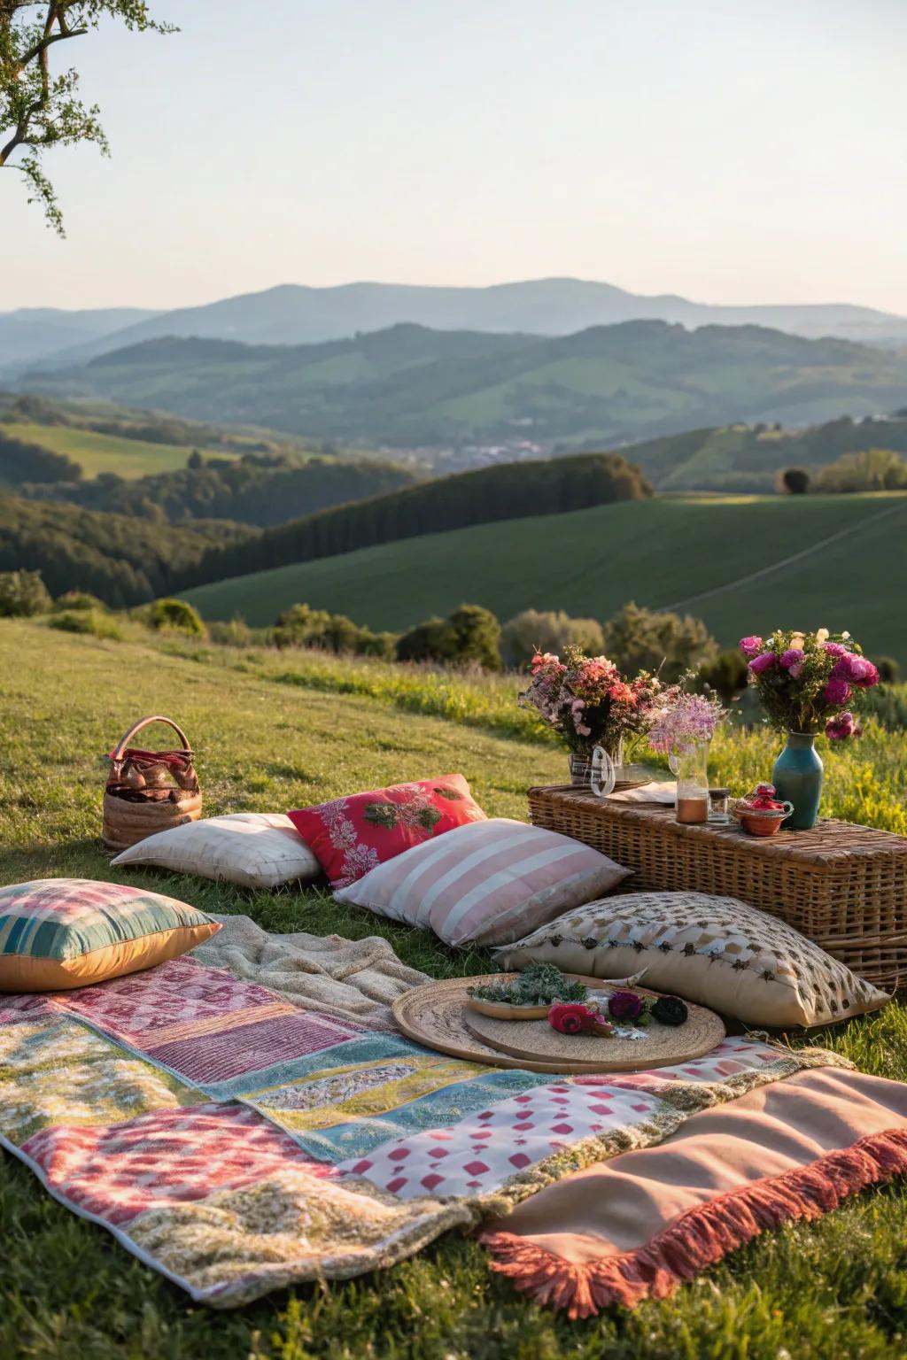
POLYGON ((215 921, 222 929, 193 951, 199 963, 257 982, 292 1005, 314 1006, 373 1030, 393 1030, 393 1002, 430 981, 401 963, 381 936, 271 934, 250 917, 215 915, 215 921))

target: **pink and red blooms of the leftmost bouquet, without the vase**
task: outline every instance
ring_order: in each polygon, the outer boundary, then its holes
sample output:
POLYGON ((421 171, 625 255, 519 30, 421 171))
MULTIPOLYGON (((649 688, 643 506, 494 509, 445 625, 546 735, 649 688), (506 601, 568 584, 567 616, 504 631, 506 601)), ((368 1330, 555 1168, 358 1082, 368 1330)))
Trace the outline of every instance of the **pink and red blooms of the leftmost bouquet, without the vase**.
POLYGON ((647 670, 630 680, 608 657, 567 647, 563 661, 551 651, 536 653, 519 703, 534 709, 570 751, 587 755, 597 745, 615 752, 627 737, 647 732, 662 691, 647 670))

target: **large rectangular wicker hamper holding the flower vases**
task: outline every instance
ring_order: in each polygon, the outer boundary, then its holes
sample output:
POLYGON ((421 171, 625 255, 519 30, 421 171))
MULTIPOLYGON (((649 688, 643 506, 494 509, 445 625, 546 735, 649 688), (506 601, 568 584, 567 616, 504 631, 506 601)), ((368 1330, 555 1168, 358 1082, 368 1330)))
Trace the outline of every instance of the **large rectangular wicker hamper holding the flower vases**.
POLYGON ((858 976, 907 986, 907 836, 850 821, 748 836, 683 826, 673 808, 609 802, 570 785, 529 790, 530 819, 634 870, 627 892, 740 898, 779 917, 858 976))

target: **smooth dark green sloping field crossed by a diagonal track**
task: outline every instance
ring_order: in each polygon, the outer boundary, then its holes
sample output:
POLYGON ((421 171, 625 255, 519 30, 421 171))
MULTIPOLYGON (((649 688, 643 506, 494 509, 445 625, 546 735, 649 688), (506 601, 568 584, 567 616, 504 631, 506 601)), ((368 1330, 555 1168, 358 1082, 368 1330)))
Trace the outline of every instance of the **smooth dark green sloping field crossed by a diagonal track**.
POLYGON ((632 598, 698 615, 725 643, 816 619, 907 662, 907 613, 892 608, 907 596, 906 533, 904 495, 635 500, 408 539, 185 597, 205 619, 271 624, 305 601, 393 630, 464 600, 506 620, 526 608, 606 619, 632 598), (828 548, 737 585, 839 533, 828 548))

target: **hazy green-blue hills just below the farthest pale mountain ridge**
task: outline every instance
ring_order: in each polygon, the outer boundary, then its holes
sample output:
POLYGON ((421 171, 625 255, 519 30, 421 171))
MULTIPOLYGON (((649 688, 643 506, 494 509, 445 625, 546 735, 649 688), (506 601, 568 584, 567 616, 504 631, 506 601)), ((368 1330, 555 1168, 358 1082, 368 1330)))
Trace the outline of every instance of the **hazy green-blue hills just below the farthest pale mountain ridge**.
POLYGON ((664 321, 551 339, 398 325, 311 345, 147 340, 33 384, 373 447, 480 445, 519 457, 892 412, 907 405, 907 352, 664 321))

